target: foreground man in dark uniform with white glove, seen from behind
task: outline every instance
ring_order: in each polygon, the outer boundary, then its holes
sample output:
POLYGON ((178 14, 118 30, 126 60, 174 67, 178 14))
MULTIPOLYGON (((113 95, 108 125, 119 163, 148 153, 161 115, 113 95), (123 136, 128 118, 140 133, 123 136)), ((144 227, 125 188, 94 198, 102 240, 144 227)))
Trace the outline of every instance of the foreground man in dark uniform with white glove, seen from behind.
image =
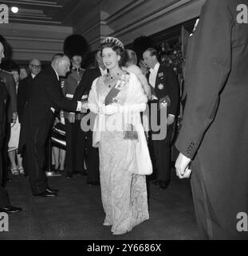
POLYGON ((248 24, 238 22, 237 8, 243 4, 248 0, 207 0, 187 47, 187 101, 175 167, 179 178, 192 171, 205 239, 248 238, 248 24))

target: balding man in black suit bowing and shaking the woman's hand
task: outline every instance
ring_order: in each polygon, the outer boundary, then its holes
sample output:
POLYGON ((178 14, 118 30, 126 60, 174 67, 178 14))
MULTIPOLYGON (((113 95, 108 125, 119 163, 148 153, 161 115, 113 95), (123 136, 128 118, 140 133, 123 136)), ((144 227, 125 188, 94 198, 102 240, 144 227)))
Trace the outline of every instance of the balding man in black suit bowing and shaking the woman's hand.
POLYGON ((70 60, 64 54, 53 57, 51 66, 37 74, 33 90, 24 110, 19 150, 26 147, 30 186, 33 195, 57 196, 57 190, 49 188, 45 176, 45 141, 53 125, 56 110, 80 111, 81 102, 70 101, 61 92, 59 76, 69 71, 70 60))

